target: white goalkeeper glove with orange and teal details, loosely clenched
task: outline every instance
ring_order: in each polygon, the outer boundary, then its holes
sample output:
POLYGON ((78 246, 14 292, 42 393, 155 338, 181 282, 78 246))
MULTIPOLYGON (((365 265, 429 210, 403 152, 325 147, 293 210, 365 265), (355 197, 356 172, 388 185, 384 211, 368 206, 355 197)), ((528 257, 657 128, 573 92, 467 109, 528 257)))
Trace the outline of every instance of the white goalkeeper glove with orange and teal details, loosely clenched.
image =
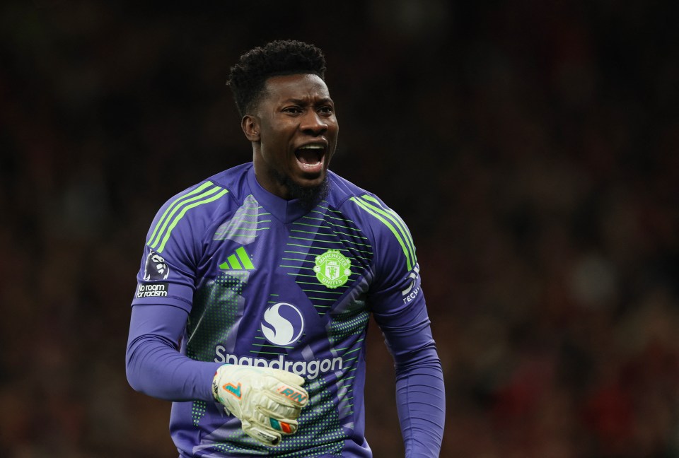
POLYGON ((214 399, 226 413, 240 418, 243 431, 265 445, 294 434, 309 395, 304 379, 286 370, 225 364, 212 379, 214 399))

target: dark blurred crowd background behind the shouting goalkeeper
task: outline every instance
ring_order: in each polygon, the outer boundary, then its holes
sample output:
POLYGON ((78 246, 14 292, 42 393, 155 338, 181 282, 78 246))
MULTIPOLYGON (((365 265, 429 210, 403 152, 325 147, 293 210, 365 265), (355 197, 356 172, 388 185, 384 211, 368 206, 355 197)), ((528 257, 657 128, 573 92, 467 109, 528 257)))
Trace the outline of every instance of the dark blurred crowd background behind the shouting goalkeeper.
MULTIPOLYGON (((4 1, 0 456, 176 456, 170 404, 124 375, 144 235, 251 159, 228 69, 294 38, 326 54, 332 168, 414 235, 441 457, 679 457, 678 24, 676 1, 4 1)), ((367 434, 397 457, 381 340, 367 434)))

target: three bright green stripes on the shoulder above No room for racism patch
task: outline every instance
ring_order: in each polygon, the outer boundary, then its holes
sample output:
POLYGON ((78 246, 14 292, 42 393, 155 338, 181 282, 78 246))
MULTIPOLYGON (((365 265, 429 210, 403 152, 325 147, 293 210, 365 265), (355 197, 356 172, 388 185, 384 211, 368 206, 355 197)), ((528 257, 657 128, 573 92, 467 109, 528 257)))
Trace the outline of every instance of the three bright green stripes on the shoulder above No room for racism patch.
POLYGON ((158 221, 153 234, 149 238, 149 242, 146 242, 147 245, 158 253, 163 252, 165 245, 170 240, 170 234, 181 219, 184 218, 187 211, 216 201, 225 194, 228 194, 228 189, 216 186, 211 182, 206 182, 192 192, 188 192, 184 196, 175 199, 158 221))

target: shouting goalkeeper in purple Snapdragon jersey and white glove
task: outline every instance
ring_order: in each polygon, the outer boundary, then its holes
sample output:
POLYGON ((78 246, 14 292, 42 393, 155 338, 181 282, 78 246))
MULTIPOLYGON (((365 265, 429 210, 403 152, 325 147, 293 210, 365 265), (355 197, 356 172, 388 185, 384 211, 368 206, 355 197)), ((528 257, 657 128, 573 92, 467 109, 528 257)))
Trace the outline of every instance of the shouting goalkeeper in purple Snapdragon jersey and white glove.
POLYGON ((339 124, 323 53, 271 42, 240 57, 228 86, 253 161, 185 189, 153 219, 129 383, 173 401, 182 458, 372 457, 373 316, 395 362, 405 455, 437 457, 443 374, 414 243, 381 199, 328 170, 339 124))

